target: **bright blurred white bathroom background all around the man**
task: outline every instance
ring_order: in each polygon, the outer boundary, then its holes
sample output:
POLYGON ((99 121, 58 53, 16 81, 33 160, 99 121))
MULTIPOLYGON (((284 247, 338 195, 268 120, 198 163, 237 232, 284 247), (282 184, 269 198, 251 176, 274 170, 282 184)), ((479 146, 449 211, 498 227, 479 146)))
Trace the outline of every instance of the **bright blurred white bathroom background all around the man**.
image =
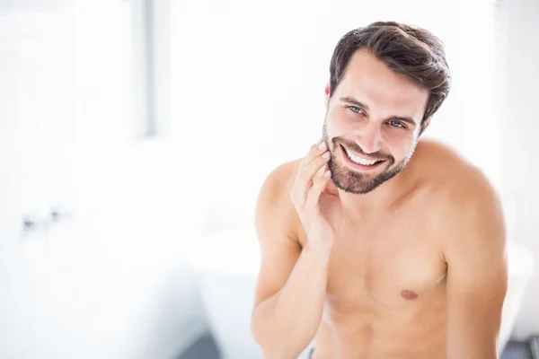
POLYGON ((0 0, 0 359, 216 359, 201 338, 261 358, 258 190, 319 138, 340 36, 378 20, 446 44, 425 136, 499 191, 502 346, 533 346, 538 18, 537 0, 0 0))

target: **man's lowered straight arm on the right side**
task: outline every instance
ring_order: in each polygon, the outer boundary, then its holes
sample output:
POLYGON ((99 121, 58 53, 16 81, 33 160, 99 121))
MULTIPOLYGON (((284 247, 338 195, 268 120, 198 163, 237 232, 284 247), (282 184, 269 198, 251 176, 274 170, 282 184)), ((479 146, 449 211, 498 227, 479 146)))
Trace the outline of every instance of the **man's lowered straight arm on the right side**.
POLYGON ((447 263, 447 358, 496 359, 508 285, 506 232, 490 183, 474 172, 455 197, 447 263))

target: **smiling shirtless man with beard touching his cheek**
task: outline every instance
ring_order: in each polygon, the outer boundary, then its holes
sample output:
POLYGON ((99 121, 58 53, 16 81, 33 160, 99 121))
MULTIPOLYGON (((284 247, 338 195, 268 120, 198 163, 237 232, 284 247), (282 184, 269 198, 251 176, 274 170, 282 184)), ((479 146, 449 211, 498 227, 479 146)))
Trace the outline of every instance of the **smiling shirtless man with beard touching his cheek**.
POLYGON ((323 139, 271 171, 257 202, 265 358, 311 343, 314 359, 497 358, 499 199, 471 163, 419 139, 449 91, 443 45, 376 22, 340 39, 330 71, 323 139))

